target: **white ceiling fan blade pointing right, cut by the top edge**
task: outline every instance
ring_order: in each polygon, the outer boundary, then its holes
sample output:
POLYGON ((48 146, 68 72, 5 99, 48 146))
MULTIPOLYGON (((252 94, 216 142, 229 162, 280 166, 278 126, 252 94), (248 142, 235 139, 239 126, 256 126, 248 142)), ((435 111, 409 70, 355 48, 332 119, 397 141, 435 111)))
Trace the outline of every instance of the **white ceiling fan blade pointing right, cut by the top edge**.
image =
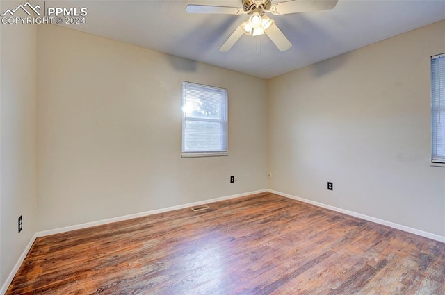
POLYGON ((270 12, 274 15, 332 9, 339 0, 293 0, 273 4, 270 12))

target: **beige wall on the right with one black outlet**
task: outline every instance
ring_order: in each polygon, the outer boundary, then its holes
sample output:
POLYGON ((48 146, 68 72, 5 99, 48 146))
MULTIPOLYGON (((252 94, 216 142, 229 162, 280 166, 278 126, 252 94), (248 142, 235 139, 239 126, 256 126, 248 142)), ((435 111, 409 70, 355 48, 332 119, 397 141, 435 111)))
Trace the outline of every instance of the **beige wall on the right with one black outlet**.
POLYGON ((445 236, 445 168, 430 167, 444 51, 445 21, 268 81, 268 188, 445 236))

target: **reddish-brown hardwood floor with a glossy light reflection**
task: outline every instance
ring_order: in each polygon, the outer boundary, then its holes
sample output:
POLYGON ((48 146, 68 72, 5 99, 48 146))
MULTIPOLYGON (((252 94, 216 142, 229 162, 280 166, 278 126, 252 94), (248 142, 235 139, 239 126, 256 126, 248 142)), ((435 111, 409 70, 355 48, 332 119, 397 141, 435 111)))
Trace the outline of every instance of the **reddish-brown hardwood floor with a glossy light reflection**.
POLYGON ((445 294, 445 244, 270 193, 38 238, 6 294, 445 294))

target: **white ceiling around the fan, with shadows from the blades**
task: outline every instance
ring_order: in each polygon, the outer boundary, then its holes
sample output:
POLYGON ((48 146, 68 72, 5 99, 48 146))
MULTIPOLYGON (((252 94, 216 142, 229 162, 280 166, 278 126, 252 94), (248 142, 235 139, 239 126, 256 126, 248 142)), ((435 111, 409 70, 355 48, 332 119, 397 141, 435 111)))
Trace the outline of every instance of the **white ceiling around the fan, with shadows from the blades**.
POLYGON ((261 78, 445 19, 445 0, 339 0, 332 10, 269 15, 293 44, 287 51, 266 35, 243 35, 221 53, 221 44, 248 15, 196 15, 184 8, 189 3, 241 7, 241 0, 47 1, 47 6, 54 3, 88 8, 86 24, 70 28, 261 78))

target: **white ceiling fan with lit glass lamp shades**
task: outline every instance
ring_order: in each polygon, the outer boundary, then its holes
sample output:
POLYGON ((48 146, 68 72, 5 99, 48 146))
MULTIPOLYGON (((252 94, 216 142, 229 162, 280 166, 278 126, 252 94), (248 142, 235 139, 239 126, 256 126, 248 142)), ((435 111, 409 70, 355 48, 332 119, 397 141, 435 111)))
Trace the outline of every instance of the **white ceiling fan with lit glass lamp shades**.
POLYGON ((272 3, 271 0, 241 0, 242 7, 226 6, 206 6, 206 5, 188 5, 188 13, 210 13, 223 15, 250 15, 249 19, 243 22, 232 35, 220 47, 221 52, 229 51, 236 41, 243 34, 257 36, 266 33, 270 40, 280 51, 285 51, 292 47, 291 42, 280 31, 273 19, 270 19, 266 13, 273 15, 287 15, 297 12, 308 12, 315 10, 332 9, 337 5, 338 0, 292 0, 281 3, 272 3))

